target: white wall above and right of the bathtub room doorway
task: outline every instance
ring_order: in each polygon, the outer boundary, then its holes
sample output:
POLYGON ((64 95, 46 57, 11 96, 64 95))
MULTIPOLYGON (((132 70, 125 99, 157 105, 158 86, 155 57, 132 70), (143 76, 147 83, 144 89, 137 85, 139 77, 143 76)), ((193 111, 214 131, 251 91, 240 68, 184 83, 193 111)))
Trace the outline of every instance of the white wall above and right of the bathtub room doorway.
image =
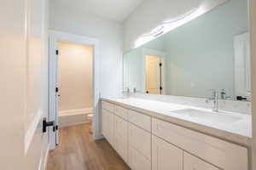
POLYGON ((116 96, 122 89, 122 26, 50 1, 50 29, 94 37, 100 41, 101 94, 116 96))

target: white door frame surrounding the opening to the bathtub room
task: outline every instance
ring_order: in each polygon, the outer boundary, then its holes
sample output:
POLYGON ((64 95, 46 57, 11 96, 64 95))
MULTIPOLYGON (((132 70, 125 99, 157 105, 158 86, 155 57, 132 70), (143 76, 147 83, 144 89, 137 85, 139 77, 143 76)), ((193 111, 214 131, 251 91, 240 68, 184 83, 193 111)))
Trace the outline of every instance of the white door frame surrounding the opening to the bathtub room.
MULTIPOLYGON (((98 103, 100 99, 100 55, 99 48, 100 42, 96 38, 83 37, 75 34, 69 34, 61 31, 49 31, 49 121, 55 121, 58 125, 58 113, 56 112, 56 50, 57 42, 75 42, 84 45, 91 45, 94 48, 93 54, 93 112, 94 117, 92 120, 92 135, 93 139, 101 139, 100 129, 100 116, 98 103)), ((52 130, 49 131, 49 149, 54 150, 56 144, 56 133, 52 130)))

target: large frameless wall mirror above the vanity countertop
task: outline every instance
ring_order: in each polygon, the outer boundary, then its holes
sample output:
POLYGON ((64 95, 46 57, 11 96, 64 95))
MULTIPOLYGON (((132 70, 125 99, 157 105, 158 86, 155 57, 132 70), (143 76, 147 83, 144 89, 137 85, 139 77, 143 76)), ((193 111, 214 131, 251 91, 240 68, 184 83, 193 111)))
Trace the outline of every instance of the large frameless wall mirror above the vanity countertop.
POLYGON ((124 54, 124 88, 147 94, 250 100, 247 0, 229 0, 124 54))

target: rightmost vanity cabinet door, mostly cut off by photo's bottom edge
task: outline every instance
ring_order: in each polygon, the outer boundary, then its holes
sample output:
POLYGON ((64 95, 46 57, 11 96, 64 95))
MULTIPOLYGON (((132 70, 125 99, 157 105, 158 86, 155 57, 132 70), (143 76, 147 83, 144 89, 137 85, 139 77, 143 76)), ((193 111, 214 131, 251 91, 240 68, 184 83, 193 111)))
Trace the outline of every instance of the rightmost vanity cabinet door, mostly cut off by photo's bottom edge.
POLYGON ((184 152, 184 170, 220 170, 201 159, 184 152))

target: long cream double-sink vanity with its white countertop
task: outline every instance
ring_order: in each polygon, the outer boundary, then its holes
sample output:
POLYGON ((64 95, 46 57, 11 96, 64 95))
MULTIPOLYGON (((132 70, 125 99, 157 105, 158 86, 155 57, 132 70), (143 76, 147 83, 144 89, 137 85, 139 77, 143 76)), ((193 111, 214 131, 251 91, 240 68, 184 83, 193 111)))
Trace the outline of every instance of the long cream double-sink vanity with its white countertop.
POLYGON ((248 170, 250 125, 245 114, 102 99, 102 134, 132 170, 248 170))

